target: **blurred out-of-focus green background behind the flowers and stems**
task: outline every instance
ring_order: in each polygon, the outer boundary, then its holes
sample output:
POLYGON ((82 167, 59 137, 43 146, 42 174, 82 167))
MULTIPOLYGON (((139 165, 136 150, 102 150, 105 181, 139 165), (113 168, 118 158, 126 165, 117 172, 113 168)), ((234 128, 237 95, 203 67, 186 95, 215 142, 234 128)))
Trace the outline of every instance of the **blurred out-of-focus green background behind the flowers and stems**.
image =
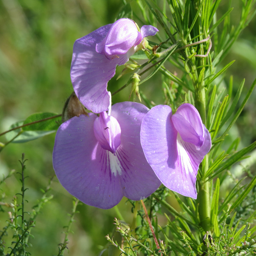
MULTIPOLYGON (((162 1, 159 2, 162 4, 162 1)), ((222 2, 218 10, 220 16, 226 12, 228 1, 222 2)), ((131 5, 134 14, 142 17, 135 0, 131 1, 131 5)), ((232 22, 237 24, 240 1, 233 1, 232 5, 232 22)), ((66 98, 72 92, 70 63, 74 41, 100 26, 114 22, 122 7, 123 2, 120 0, 0 0, 0 132, 35 112, 62 112, 66 98)), ((139 26, 143 25, 135 16, 134 20, 139 26)), ((223 66, 231 60, 236 62, 222 83, 225 86, 232 74, 234 88, 239 86, 243 78, 246 78, 245 87, 249 88, 256 76, 255 18, 242 32, 223 61, 223 66)), ((163 103, 161 86, 157 86, 159 81, 160 76, 156 76, 149 80, 150 85, 144 84, 142 88, 156 104, 163 103)), ((114 91, 125 83, 125 78, 118 82, 112 80, 108 88, 114 91)), ((113 101, 128 100, 128 95, 127 88, 114 96, 113 101)), ((255 97, 254 92, 237 126, 232 130, 233 136, 243 135, 244 146, 256 140, 255 97)), ((40 188, 44 189, 48 180, 54 176, 54 136, 51 134, 25 144, 9 144, 0 154, 0 177, 12 169, 20 171, 18 160, 22 153, 28 158, 27 211, 42 195, 40 188)), ((4 137, 0 141, 5 142, 4 137)), ((12 202, 13 196, 20 192, 19 178, 14 175, 2 185, 2 192, 6 195, 2 201, 12 202)), ((44 206, 32 230, 34 238, 30 239, 32 247, 29 249, 32 255, 56 255, 58 244, 64 239, 63 226, 68 224, 67 213, 72 211, 72 196, 56 178, 50 194, 54 198, 44 206)), ((131 205, 126 203, 125 198, 118 207, 126 221, 131 221, 131 205)), ((116 212, 114 209, 100 210, 84 204, 80 204, 78 210, 80 214, 76 214, 76 222, 72 226, 74 234, 69 236, 69 252, 64 254, 98 255, 106 245, 104 236, 112 233, 116 212)), ((5 226, 6 219, 7 212, 0 212, 0 230, 5 226)))

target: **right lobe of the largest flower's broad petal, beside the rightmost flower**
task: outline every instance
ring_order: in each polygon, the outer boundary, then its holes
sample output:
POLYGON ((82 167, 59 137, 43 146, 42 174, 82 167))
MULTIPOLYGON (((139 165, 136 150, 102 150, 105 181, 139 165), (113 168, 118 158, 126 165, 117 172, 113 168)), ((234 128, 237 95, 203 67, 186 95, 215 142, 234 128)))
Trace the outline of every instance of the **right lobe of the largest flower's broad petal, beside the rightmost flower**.
POLYGON ((147 112, 146 106, 136 102, 120 102, 112 106, 111 115, 118 120, 122 131, 121 145, 116 152, 120 154, 120 162, 128 166, 120 176, 120 183, 124 196, 132 200, 146 198, 161 184, 140 144, 140 126, 147 112))

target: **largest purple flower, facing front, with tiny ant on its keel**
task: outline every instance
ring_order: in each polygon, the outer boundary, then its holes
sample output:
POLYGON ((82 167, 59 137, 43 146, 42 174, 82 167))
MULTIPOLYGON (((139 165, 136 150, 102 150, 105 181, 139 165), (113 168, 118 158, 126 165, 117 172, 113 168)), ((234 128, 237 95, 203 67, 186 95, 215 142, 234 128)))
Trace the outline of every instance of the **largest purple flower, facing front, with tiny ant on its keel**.
POLYGON ((57 131, 53 166, 66 190, 91 206, 108 209, 123 196, 140 200, 161 184, 148 164, 140 126, 148 112, 136 102, 112 106, 111 116, 89 113, 64 122, 57 131))

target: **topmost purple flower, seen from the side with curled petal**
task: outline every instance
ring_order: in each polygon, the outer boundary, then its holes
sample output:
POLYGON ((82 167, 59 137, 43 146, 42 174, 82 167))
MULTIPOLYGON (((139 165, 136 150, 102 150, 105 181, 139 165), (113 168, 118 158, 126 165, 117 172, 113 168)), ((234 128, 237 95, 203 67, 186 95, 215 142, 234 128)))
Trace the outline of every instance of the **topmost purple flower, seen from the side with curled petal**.
POLYGON ((143 38, 157 31, 145 25, 139 32, 133 20, 122 18, 76 40, 70 76, 80 102, 94 113, 108 110, 111 94, 107 84, 116 66, 125 64, 141 48, 143 38))

